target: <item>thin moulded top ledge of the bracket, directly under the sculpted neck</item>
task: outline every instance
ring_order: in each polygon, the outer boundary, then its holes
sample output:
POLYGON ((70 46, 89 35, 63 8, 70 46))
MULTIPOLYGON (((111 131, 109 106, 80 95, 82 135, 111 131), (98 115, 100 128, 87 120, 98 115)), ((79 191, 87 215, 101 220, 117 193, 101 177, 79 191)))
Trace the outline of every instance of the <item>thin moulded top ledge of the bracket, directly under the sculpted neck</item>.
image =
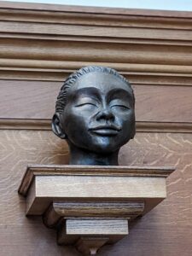
POLYGON ((70 166, 32 165, 27 166, 20 183, 19 193, 26 196, 32 180, 36 176, 116 176, 116 177, 168 177, 174 167, 157 166, 70 166))

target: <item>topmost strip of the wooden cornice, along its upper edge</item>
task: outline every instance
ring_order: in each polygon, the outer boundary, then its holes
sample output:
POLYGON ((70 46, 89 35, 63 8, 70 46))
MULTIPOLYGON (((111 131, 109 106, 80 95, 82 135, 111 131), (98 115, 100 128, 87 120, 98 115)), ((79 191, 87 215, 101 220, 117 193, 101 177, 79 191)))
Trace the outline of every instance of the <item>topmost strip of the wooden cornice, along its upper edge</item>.
MULTIPOLYGON (((38 20, 48 23, 72 23, 72 24, 102 24, 108 22, 109 26, 128 26, 127 21, 137 26, 154 26, 152 19, 159 23, 160 27, 179 28, 185 26, 190 29, 191 12, 189 11, 167 11, 167 10, 147 10, 147 9, 122 9, 122 8, 103 8, 103 7, 85 7, 70 6, 60 4, 42 4, 42 3, 0 3, 2 20, 20 20, 33 21, 38 20), (10 15, 12 11, 12 16, 10 15), (137 19, 135 19, 137 17, 137 19), (149 18, 149 19, 148 19, 149 18), (113 23, 115 21, 115 23, 113 23), (165 21, 172 21, 165 22, 165 21)), ((129 24, 129 23, 128 23, 129 24)))

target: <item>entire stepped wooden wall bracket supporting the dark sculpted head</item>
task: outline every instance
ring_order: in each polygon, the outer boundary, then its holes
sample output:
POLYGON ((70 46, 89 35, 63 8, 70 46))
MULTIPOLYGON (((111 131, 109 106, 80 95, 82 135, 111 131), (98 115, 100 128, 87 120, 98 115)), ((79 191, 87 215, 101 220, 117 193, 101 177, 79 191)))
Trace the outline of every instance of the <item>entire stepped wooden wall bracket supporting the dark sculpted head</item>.
POLYGON ((28 166, 19 193, 26 215, 43 215, 57 242, 95 255, 127 236, 131 219, 166 198, 172 167, 28 166))

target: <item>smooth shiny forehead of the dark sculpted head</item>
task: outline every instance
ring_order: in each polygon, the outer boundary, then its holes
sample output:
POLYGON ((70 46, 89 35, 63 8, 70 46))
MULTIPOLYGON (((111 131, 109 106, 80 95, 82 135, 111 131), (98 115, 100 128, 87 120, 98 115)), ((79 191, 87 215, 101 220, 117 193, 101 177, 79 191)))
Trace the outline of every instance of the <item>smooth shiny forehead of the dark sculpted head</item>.
POLYGON ((69 90, 74 92, 86 87, 95 87, 102 94, 108 94, 113 89, 127 90, 131 94, 131 88, 123 80, 110 73, 92 72, 82 75, 69 90))

